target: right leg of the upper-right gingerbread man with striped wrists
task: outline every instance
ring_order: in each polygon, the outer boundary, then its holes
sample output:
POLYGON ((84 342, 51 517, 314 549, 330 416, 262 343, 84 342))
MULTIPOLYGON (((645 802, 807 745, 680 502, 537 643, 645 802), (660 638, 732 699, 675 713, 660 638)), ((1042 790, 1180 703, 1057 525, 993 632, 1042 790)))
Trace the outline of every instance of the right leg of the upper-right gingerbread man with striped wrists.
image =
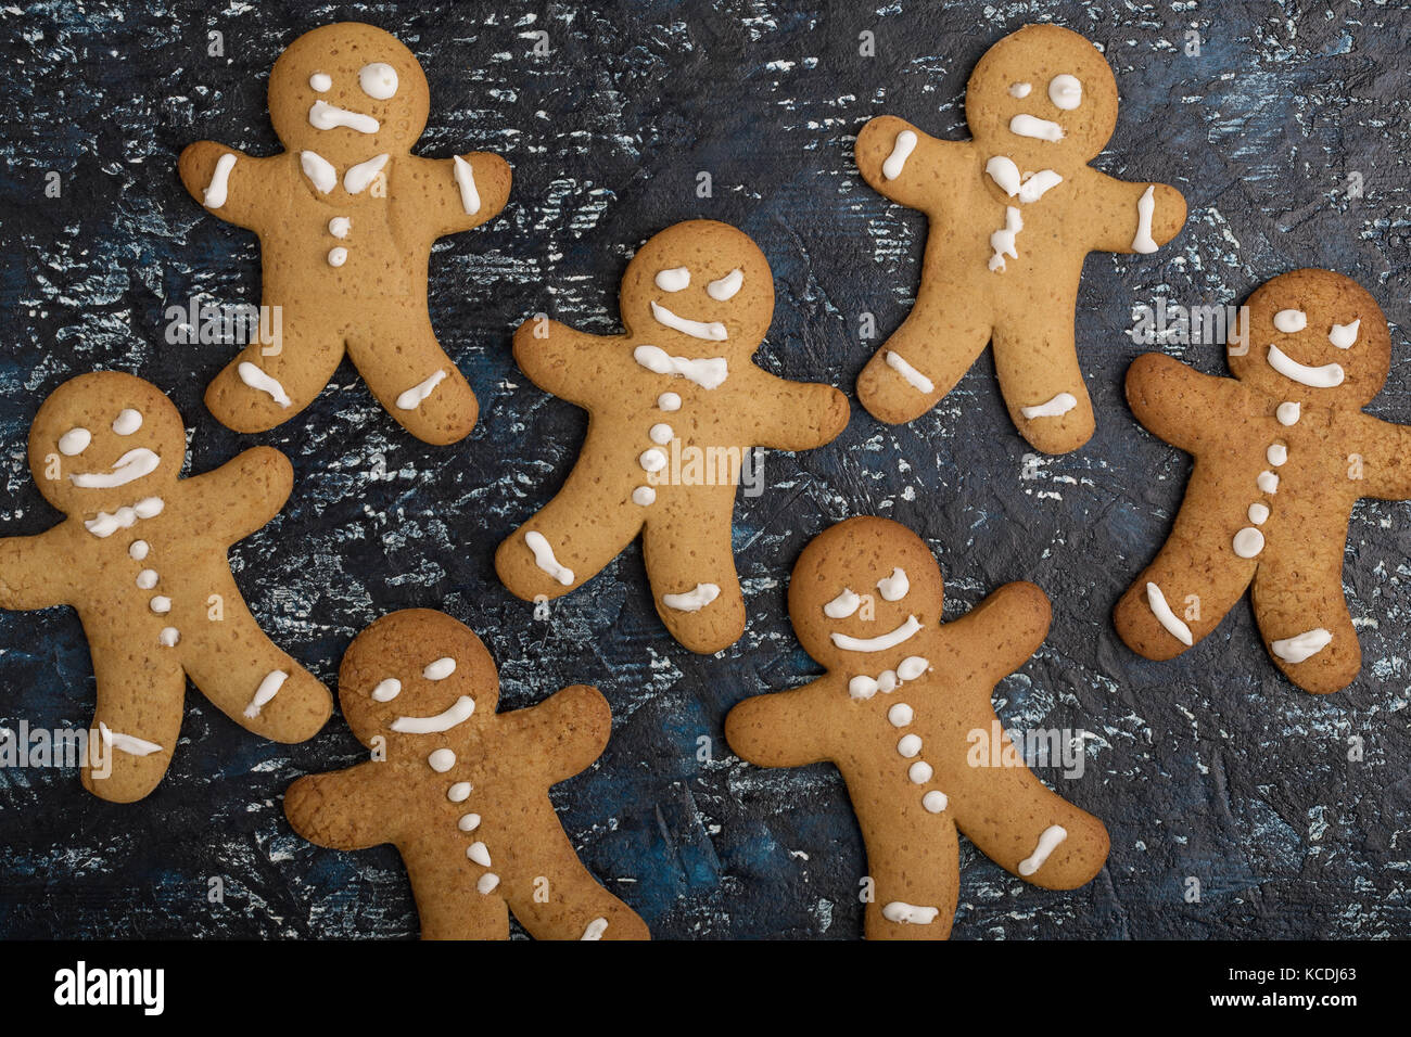
POLYGON ((1009 418, 1046 454, 1077 450, 1095 422, 1072 340, 1074 308, 1033 308, 995 326, 995 372, 1009 418))

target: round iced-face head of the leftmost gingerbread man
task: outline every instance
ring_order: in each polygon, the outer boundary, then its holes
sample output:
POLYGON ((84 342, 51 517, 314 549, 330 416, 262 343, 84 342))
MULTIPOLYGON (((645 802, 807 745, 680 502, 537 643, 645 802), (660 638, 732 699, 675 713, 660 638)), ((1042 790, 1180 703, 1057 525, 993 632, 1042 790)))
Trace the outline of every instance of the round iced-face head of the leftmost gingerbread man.
POLYGON ((172 488, 186 426, 151 382, 96 371, 56 388, 30 427, 30 471, 68 515, 114 512, 172 488))

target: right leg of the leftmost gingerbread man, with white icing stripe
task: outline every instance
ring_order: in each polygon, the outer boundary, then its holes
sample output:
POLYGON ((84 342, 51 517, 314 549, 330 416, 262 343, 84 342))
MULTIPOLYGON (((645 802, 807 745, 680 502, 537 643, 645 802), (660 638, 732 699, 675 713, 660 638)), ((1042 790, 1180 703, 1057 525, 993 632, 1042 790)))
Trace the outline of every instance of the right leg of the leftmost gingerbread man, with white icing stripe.
POLYGON ((333 697, 319 679, 279 650, 229 595, 224 618, 183 629, 176 650, 202 694, 262 738, 302 742, 333 712, 333 697))

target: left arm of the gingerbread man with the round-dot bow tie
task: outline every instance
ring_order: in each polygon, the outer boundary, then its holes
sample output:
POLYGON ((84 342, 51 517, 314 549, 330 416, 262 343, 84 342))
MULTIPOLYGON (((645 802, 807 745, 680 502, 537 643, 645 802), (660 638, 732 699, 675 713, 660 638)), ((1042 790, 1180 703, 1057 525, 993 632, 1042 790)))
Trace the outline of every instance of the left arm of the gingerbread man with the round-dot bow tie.
POLYGON ((827 676, 792 691, 746 698, 725 717, 725 742, 742 760, 761 768, 804 768, 834 759, 820 707, 827 696, 847 694, 841 679, 827 676))

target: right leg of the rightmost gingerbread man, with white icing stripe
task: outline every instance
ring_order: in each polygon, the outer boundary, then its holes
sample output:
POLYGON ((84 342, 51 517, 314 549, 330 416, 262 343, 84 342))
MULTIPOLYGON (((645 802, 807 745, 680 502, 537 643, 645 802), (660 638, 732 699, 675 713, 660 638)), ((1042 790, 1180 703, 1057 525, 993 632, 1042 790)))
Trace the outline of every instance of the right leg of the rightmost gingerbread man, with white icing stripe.
MULTIPOLYGON (((1284 536, 1295 530, 1284 526, 1284 536)), ((1362 646, 1342 591, 1346 526, 1318 530, 1309 523, 1300 550, 1266 552, 1250 600, 1274 665, 1305 691, 1348 687, 1362 670, 1362 646)))

